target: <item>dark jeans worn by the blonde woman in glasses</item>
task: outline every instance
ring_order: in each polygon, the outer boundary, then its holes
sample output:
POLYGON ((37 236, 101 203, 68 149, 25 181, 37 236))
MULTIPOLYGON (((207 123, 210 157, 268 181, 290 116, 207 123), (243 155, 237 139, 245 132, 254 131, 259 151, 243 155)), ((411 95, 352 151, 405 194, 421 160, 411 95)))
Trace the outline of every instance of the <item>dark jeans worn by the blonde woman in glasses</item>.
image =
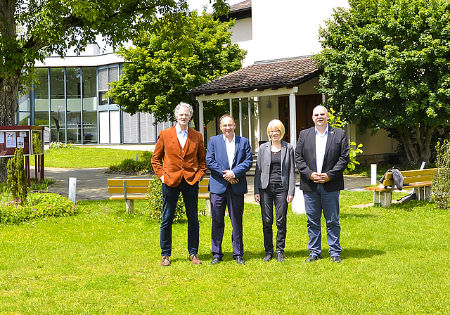
POLYGON ((284 252, 286 240, 286 216, 288 214, 288 202, 286 191, 281 184, 269 184, 266 189, 259 189, 261 197, 262 232, 264 234, 264 248, 266 252, 274 254, 272 242, 272 225, 274 224, 274 204, 276 216, 276 252, 284 252))

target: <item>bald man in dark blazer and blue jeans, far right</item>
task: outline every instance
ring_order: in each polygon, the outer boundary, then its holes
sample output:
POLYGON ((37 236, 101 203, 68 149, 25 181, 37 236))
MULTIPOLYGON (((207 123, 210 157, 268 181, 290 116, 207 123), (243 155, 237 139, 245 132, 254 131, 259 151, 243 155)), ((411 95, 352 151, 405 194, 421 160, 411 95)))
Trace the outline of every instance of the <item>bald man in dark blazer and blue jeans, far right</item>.
POLYGON ((295 163, 300 171, 309 235, 307 262, 321 258, 321 216, 326 219, 329 253, 341 262, 339 192, 344 189, 344 171, 350 162, 345 131, 328 125, 328 112, 322 105, 313 110, 314 127, 300 131, 295 163))

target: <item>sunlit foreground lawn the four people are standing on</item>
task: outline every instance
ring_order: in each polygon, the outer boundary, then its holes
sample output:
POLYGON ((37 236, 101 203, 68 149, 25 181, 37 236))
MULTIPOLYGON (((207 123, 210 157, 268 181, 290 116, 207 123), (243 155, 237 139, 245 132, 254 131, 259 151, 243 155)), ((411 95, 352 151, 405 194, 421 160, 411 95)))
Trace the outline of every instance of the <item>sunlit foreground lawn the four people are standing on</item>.
MULTIPOLYGON (((394 193, 394 199, 401 196, 394 193)), ((200 217, 200 266, 188 262, 186 222, 160 266, 159 226, 123 201, 84 201, 80 214, 0 226, 0 314, 450 314, 450 215, 410 202, 356 208, 371 192, 341 192, 342 263, 307 264, 306 217, 288 213, 286 262, 262 262, 258 205, 245 205, 245 266, 210 260, 200 217)), ((143 207, 137 202, 135 208, 143 207)), ((200 200, 200 207, 205 202, 200 200)))

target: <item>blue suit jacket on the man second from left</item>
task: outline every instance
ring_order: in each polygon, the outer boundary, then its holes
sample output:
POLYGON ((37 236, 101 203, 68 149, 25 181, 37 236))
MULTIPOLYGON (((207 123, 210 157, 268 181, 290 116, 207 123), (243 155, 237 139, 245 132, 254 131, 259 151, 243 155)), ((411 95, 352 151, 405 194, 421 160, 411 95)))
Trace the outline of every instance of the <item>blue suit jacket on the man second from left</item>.
MULTIPOLYGON (((243 195, 247 193, 247 179, 245 179, 245 173, 248 172, 253 164, 252 148, 250 147, 248 139, 238 135, 235 136, 236 143, 231 170, 234 172, 235 178, 239 179, 239 181, 238 183, 231 185, 231 188, 236 195, 243 195)), ((208 190, 211 193, 225 193, 229 181, 222 177, 224 175, 222 171, 230 169, 230 167, 228 155, 226 155, 223 134, 212 136, 210 138, 206 151, 206 166, 211 171, 208 190)))

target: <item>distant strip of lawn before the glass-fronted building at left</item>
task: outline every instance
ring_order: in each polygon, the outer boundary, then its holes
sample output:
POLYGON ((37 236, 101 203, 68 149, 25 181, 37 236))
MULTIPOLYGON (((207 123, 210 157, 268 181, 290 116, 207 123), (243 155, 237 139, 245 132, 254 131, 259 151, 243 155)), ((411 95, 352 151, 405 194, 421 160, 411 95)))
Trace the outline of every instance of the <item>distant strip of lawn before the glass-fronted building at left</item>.
MULTIPOLYGON (((135 159, 137 153, 139 151, 111 148, 52 148, 44 155, 44 163, 46 167, 61 168, 110 167, 127 158, 135 159)), ((30 164, 34 165, 34 159, 30 159, 30 164)))

